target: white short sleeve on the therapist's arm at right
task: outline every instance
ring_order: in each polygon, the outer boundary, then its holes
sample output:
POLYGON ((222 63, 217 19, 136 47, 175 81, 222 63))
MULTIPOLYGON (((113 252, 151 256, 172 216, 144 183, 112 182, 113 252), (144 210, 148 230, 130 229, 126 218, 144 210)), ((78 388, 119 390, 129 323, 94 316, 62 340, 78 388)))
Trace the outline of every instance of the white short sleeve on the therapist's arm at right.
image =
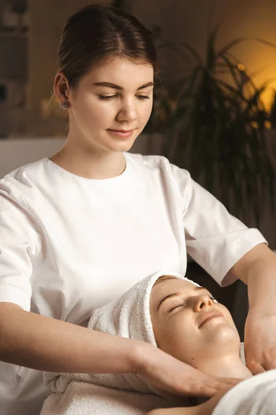
POLYGON ((247 228, 190 174, 171 165, 183 201, 187 252, 215 281, 226 286, 235 280, 224 277, 246 252, 267 243, 261 232, 247 228))

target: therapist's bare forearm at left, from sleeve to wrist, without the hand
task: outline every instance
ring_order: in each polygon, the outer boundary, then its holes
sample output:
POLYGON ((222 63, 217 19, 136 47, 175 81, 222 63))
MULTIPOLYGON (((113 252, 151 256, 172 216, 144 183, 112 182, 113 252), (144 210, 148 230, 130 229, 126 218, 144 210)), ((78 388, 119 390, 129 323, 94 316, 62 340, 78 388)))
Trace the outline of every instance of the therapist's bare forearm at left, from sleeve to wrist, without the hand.
POLYGON ((142 342, 0 304, 0 360, 41 371, 135 371, 142 342), (139 351, 139 353, 136 353, 139 351))

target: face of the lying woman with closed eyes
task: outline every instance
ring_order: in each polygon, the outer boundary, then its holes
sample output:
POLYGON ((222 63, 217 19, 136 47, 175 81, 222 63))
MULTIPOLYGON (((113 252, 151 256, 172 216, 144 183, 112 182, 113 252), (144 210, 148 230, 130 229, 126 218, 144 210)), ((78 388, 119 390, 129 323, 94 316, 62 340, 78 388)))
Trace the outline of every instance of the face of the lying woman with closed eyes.
POLYGON ((220 353, 239 353, 239 334, 228 309, 206 288, 161 278, 152 288, 150 315, 159 349, 193 367, 220 353))

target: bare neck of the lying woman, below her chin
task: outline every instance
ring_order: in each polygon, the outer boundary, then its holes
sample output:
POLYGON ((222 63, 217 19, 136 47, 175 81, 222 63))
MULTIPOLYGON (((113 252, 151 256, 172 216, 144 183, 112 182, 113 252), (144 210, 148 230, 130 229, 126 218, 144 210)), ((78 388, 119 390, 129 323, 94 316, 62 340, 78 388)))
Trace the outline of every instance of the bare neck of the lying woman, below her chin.
POLYGON ((198 362, 197 369, 217 378, 246 379, 253 376, 239 355, 215 356, 198 362))

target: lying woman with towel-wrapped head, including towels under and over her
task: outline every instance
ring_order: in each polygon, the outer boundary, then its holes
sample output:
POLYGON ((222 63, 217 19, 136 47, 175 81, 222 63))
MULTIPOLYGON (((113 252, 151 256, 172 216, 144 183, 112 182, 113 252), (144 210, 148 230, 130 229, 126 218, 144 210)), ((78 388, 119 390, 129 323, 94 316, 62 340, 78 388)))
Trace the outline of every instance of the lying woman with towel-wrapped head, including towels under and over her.
POLYGON ((195 398, 168 396, 133 374, 47 372, 44 380, 52 394, 40 415, 275 413, 276 369, 253 377, 240 358, 239 335, 227 308, 179 274, 160 271, 146 277, 96 310, 88 328, 149 342, 206 374, 244 381, 199 404, 195 398))

